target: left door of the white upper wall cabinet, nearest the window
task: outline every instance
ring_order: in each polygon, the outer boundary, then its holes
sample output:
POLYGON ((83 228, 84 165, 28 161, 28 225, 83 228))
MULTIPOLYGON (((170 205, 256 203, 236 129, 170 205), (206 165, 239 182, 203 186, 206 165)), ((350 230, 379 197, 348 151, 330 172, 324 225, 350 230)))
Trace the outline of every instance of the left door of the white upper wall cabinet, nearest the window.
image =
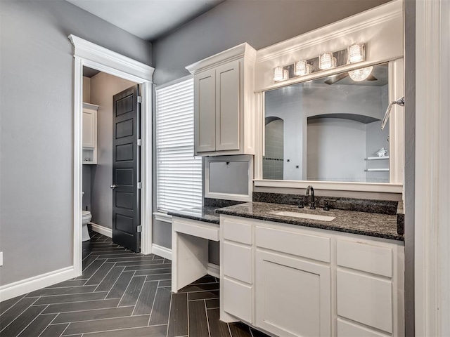
POLYGON ((195 153, 216 150, 216 75, 215 70, 194 76, 194 149, 195 153))

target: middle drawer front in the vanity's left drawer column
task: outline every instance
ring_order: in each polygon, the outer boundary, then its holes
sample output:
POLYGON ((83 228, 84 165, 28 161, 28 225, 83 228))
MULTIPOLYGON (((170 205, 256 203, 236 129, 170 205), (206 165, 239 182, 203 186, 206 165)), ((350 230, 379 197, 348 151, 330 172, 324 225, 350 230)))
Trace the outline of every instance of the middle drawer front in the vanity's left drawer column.
POLYGON ((252 283, 252 248, 224 242, 224 275, 252 283))

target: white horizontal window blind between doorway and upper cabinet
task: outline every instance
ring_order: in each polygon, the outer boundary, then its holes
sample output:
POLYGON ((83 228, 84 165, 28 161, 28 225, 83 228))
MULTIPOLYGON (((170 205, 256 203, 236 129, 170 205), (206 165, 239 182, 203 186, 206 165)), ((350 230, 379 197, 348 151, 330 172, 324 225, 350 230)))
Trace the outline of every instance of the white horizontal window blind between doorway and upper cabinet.
POLYGON ((194 157, 193 79, 156 89, 158 211, 202 205, 202 159, 194 157))

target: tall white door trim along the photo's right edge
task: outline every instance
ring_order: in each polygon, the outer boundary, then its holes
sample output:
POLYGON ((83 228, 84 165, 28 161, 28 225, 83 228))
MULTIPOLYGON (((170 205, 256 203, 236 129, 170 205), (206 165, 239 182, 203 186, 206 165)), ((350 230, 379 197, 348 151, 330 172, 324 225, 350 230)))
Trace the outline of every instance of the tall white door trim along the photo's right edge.
POLYGON ((450 336, 449 20, 449 1, 416 1, 416 336, 450 336))

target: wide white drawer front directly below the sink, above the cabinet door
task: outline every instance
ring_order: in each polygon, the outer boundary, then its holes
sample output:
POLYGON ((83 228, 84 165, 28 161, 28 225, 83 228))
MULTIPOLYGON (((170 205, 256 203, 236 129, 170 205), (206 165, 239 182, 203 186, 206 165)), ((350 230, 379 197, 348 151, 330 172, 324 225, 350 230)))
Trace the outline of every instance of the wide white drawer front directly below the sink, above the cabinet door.
POLYGON ((330 238, 289 230, 256 227, 256 245, 304 258, 330 262, 330 238))

